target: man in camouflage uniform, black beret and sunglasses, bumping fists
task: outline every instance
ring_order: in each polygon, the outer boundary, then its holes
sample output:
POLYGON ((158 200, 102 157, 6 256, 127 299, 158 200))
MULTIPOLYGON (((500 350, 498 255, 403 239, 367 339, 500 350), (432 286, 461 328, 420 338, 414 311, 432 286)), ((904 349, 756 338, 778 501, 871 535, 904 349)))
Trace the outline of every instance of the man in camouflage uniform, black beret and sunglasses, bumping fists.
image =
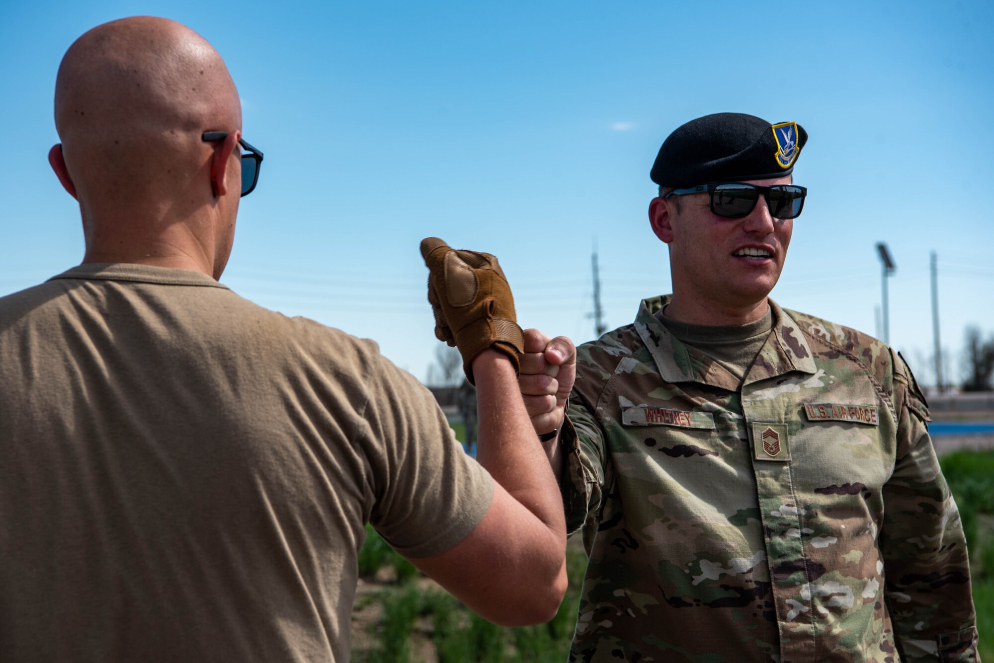
POLYGON ((908 365, 767 298, 806 139, 733 113, 677 129, 649 209, 673 295, 576 366, 569 339, 526 332, 522 391, 589 556, 572 661, 977 660, 908 365), (773 189, 704 186, 730 182, 773 189))

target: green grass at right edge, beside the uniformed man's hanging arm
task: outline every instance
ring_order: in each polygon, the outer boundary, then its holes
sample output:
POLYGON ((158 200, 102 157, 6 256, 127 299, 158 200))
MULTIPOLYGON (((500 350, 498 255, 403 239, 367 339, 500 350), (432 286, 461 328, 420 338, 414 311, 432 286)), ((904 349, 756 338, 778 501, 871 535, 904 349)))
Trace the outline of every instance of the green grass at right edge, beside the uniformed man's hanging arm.
POLYGON ((994 452, 954 452, 939 461, 970 551, 981 660, 994 660, 994 452))

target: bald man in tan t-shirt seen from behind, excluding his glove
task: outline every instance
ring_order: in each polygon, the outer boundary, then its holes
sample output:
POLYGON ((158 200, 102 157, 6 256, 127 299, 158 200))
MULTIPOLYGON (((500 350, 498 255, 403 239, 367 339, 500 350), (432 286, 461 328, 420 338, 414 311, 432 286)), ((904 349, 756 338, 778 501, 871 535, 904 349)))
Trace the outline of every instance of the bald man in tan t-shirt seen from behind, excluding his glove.
POLYGON ((492 621, 555 614, 562 502, 507 354, 472 360, 476 464, 375 343, 218 283, 254 178, 206 41, 94 28, 56 125, 85 255, 0 299, 0 659, 347 660, 367 521, 492 621))

